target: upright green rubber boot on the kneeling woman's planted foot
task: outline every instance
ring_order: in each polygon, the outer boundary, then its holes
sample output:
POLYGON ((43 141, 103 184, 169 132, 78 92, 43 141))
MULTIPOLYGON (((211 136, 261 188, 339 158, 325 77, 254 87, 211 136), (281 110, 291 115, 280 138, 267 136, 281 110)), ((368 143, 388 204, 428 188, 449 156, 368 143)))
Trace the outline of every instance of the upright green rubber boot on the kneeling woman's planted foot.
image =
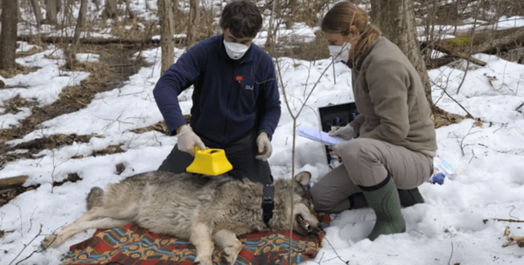
POLYGON ((391 176, 372 187, 361 186, 362 193, 377 215, 373 230, 368 239, 374 241, 381 234, 397 234, 406 232, 406 221, 400 213, 400 199, 391 176))

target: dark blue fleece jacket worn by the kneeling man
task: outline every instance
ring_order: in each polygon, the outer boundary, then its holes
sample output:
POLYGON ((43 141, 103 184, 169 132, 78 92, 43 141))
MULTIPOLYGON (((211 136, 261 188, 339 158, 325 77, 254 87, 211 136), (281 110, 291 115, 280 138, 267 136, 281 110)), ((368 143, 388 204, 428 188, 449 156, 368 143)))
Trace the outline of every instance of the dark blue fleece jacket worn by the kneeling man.
POLYGON ((194 86, 191 128, 201 137, 229 144, 248 133, 272 137, 281 109, 271 57, 252 44, 241 59, 230 59, 224 36, 191 47, 160 77, 153 94, 169 132, 186 123, 177 96, 194 86))

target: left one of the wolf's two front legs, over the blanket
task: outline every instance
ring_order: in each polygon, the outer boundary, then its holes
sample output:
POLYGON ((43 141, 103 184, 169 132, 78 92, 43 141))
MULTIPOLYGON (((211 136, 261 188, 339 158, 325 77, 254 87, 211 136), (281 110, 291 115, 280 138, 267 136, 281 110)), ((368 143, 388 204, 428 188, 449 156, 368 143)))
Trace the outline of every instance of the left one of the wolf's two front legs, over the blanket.
POLYGON ((191 227, 189 241, 196 248, 195 264, 212 265, 211 255, 214 249, 211 240, 211 229, 203 222, 197 222, 191 227))

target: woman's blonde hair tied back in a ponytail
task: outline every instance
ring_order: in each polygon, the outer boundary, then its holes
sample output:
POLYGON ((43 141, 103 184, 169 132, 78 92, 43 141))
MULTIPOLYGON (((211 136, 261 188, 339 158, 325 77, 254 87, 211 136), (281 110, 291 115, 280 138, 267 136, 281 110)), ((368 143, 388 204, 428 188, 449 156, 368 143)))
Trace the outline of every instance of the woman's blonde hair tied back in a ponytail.
POLYGON ((358 57, 366 54, 371 49, 375 40, 381 35, 381 31, 377 26, 367 24, 367 13, 353 3, 349 3, 349 1, 335 4, 326 13, 322 20, 321 30, 326 33, 347 36, 349 35, 349 24, 351 24, 351 29, 356 27, 360 34, 358 43, 349 50, 349 58, 352 61, 356 61, 358 57))

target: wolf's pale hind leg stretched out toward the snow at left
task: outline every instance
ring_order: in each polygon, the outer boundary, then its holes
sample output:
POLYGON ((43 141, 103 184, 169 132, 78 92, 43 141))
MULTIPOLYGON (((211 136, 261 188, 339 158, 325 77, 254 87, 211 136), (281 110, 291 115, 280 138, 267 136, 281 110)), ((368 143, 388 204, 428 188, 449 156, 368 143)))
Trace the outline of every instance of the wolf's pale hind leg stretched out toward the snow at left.
POLYGON ((126 225, 131 220, 128 219, 113 219, 113 218, 103 218, 100 220, 94 220, 89 222, 73 222, 71 225, 64 227, 58 234, 46 236, 41 243, 42 249, 46 248, 57 248, 61 243, 64 243, 69 237, 78 234, 82 231, 85 231, 89 228, 97 229, 108 229, 112 227, 119 227, 126 225))

